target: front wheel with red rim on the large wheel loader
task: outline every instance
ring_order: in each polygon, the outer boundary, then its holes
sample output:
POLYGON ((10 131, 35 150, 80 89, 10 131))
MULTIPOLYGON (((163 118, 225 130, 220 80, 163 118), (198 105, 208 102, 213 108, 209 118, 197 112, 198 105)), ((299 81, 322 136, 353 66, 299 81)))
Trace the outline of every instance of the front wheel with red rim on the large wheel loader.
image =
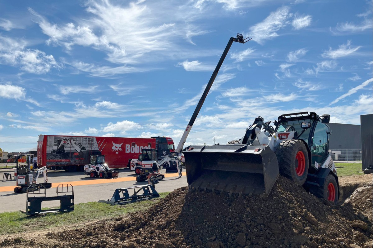
POLYGON ((289 139, 282 141, 276 150, 280 175, 302 186, 307 179, 309 160, 303 141, 289 139))

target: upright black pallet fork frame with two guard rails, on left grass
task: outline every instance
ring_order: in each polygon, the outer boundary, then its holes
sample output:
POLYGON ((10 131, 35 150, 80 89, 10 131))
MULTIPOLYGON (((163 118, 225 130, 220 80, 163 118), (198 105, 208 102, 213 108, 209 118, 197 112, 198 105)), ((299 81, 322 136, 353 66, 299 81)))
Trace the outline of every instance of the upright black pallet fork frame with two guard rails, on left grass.
POLYGON ((38 190, 32 191, 30 185, 26 191, 26 211, 19 210, 26 215, 40 215, 42 213, 70 212, 74 210, 74 188, 71 184, 59 184, 56 189, 57 196, 47 197, 46 187, 40 185, 38 190), (43 191, 44 190, 44 191, 43 191), (41 192, 42 191, 42 192, 41 192), (41 209, 44 201, 60 201, 57 209, 41 209))

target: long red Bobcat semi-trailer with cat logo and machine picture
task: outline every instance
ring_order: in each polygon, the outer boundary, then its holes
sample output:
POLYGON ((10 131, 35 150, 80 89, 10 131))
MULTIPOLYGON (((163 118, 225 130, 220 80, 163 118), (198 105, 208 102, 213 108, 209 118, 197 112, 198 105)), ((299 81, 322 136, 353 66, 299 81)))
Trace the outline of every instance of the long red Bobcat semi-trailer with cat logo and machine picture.
POLYGON ((142 149, 156 148, 155 138, 39 135, 37 163, 47 168, 63 166, 67 171, 83 170, 91 155, 105 155, 110 168, 128 168, 142 149))

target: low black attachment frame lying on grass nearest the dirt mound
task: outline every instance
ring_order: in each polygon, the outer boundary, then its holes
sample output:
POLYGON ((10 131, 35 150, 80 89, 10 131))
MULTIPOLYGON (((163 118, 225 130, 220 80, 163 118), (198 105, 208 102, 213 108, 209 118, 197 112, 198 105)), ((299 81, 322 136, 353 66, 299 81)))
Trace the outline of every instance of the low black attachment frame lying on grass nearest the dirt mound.
POLYGON ((141 200, 149 200, 159 197, 158 192, 150 184, 133 186, 123 189, 116 189, 114 191, 112 199, 98 200, 98 202, 108 203, 111 205, 122 205, 131 202, 138 202, 141 200), (129 191, 134 190, 133 194, 129 191), (142 192, 140 192, 142 190, 142 192), (121 196, 122 194, 122 196, 121 196))

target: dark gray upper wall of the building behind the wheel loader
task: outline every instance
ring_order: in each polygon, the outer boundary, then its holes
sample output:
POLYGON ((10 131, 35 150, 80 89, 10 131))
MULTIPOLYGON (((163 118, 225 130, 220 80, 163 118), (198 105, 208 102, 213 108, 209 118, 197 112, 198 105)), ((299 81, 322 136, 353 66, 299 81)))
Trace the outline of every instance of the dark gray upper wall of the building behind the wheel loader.
POLYGON ((360 125, 328 123, 329 149, 361 149, 360 125))

